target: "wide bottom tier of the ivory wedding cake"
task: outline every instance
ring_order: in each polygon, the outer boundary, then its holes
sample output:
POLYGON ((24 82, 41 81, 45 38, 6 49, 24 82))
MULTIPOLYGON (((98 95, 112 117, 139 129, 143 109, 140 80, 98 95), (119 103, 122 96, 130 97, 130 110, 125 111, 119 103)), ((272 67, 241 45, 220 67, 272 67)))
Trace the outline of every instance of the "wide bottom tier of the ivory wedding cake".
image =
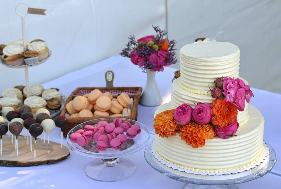
MULTIPOLYGON (((155 115, 170 107, 170 103, 160 106, 155 115)), ((170 164, 198 172, 228 172, 251 166, 264 152, 264 118, 250 104, 248 112, 249 121, 229 139, 215 137, 205 140, 205 146, 194 149, 181 140, 179 133, 168 138, 155 135, 155 152, 170 164)))

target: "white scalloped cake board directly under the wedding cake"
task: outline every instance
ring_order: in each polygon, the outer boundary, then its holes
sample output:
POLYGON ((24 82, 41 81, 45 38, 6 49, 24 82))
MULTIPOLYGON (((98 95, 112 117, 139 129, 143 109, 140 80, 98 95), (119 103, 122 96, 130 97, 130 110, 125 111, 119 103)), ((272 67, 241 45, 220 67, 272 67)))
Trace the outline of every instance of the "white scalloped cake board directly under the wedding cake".
POLYGON ((188 178, 196 178, 196 179, 203 179, 203 180, 226 180, 226 179, 239 178, 239 177, 250 175, 261 169, 263 166, 265 166, 269 158, 269 149, 268 146, 265 144, 265 142, 263 146, 265 148, 264 154, 256 164, 240 170, 224 172, 224 173, 201 173, 201 172, 182 169, 161 160, 160 157, 157 156, 157 154, 155 153, 154 141, 152 142, 150 149, 152 155, 154 156, 153 159, 155 160, 155 162, 169 172, 188 178))

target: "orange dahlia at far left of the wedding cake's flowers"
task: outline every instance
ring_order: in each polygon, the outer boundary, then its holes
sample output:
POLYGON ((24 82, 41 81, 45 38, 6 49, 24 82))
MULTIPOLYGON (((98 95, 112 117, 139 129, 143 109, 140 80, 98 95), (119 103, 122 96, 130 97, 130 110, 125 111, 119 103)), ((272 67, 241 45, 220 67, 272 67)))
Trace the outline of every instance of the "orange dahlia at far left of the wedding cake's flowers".
POLYGON ((166 110, 155 116, 153 123, 155 134, 159 134, 160 137, 176 135, 176 130, 179 130, 179 127, 174 122, 174 112, 174 109, 166 110))

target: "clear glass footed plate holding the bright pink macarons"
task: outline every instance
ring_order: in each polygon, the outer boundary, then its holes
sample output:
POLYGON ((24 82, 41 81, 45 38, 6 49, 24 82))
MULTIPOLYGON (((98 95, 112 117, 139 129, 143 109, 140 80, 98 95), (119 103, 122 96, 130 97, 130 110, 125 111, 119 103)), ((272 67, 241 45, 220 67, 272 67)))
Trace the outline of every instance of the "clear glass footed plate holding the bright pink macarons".
POLYGON ((114 118, 94 119, 73 127, 73 129, 71 129, 66 136, 67 144, 68 147, 77 154, 98 158, 86 166, 85 173, 88 177, 96 181, 103 182, 120 181, 128 178, 136 171, 136 166, 132 161, 120 157, 127 156, 139 151, 140 149, 143 149, 148 143, 150 131, 147 127, 145 127, 145 125, 138 121, 121 118, 122 122, 128 121, 132 125, 138 124, 140 126, 141 132, 135 138, 127 138, 127 143, 122 145, 121 149, 119 150, 109 148, 110 146, 108 145, 105 151, 97 151, 95 148, 96 141, 94 139, 90 140, 89 143, 83 147, 70 141, 71 133, 79 129, 83 129, 85 125, 97 126, 97 122, 102 120, 110 123, 113 122, 114 118))

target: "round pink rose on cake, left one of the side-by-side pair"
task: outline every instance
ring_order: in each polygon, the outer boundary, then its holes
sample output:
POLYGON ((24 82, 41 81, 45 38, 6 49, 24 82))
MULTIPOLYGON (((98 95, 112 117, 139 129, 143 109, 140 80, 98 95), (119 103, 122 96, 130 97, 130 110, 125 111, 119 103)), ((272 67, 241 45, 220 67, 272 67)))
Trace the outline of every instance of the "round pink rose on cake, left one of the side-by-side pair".
POLYGON ((177 124, 184 126, 191 121, 192 107, 182 104, 175 110, 174 120, 177 124))

